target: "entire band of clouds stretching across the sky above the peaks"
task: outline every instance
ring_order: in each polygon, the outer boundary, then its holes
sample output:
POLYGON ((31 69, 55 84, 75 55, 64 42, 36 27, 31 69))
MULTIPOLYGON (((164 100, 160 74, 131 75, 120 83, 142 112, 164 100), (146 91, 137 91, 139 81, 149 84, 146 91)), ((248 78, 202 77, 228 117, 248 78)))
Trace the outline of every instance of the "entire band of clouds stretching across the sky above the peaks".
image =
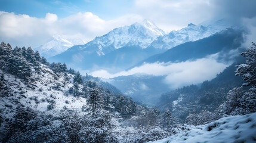
MULTIPOLYGON (((66 7, 69 4, 61 3, 61 5, 66 7)), ((253 20, 256 16, 256 1, 254 0, 137 0, 127 7, 129 10, 127 8, 120 10, 124 15, 113 13, 115 16, 112 16, 110 20, 100 18, 90 12, 76 13, 64 18, 47 13, 44 18, 36 18, 26 14, 0 11, 0 40, 9 42, 13 46, 37 47, 53 39, 54 35, 60 35, 69 41, 76 39, 76 42, 81 44, 79 42, 91 41, 95 36, 104 35, 116 27, 143 19, 153 21, 161 29, 170 31, 181 29, 188 23, 200 24, 206 20, 221 18, 228 18, 232 23, 247 26, 245 21, 253 20)), ((72 8, 79 10, 76 5, 72 8)), ((95 11, 103 13, 97 8, 95 11)))

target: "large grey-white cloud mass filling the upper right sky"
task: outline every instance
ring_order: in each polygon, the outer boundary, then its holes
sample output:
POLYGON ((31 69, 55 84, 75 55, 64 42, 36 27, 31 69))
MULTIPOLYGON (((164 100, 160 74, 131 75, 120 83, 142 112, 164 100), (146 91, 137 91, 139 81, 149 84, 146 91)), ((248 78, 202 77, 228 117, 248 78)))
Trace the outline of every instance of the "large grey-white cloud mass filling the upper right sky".
POLYGON ((241 18, 255 17, 255 7, 254 0, 137 0, 132 11, 164 30, 178 30, 222 18, 239 24, 241 18))

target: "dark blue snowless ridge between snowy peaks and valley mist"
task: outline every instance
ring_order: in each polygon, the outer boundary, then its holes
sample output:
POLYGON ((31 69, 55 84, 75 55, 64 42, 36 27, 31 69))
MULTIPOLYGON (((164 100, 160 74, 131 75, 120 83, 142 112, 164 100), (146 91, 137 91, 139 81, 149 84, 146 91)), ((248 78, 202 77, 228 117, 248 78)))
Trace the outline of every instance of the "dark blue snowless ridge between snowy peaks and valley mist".
MULTIPOLYGON (((243 30, 239 29, 226 29, 221 32, 215 33, 207 38, 200 39, 195 42, 186 42, 168 49, 161 54, 153 55, 146 60, 141 61, 136 66, 141 66, 143 63, 155 62, 171 62, 178 63, 181 61, 195 60, 204 58, 207 55, 219 54, 219 60, 229 59, 229 52, 238 49, 243 42, 243 30), (226 54, 223 54, 226 53, 226 54), (223 55, 222 55, 223 54, 223 55)), ((236 54, 239 54, 237 52, 236 54)), ((233 60, 233 59, 229 59, 233 60)))

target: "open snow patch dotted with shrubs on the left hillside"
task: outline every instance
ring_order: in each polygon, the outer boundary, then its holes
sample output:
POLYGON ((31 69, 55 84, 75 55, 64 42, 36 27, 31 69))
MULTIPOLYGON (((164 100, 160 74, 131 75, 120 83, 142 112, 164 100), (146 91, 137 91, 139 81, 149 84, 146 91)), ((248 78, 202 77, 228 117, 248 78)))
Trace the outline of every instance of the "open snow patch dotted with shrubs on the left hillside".
MULTIPOLYGON (((17 105, 31 107, 39 111, 47 111, 47 105, 51 102, 55 102, 55 110, 61 110, 64 106, 67 109, 81 110, 82 105, 86 105, 86 99, 82 97, 74 97, 68 93, 70 87, 73 86, 73 75, 67 73, 55 74, 51 69, 42 66, 42 72, 38 75, 32 74, 31 79, 33 82, 24 82, 24 80, 18 77, 4 73, 5 83, 9 88, 10 93, 13 93, 13 97, 2 97, 0 100, 0 108, 5 113, 13 113, 13 109, 17 105), (55 89, 59 85, 59 89, 55 89), (6 108, 11 107, 11 108, 6 108)), ((0 70, 2 73, 2 70, 0 70)), ((5 114, 9 116, 9 114, 5 114)))

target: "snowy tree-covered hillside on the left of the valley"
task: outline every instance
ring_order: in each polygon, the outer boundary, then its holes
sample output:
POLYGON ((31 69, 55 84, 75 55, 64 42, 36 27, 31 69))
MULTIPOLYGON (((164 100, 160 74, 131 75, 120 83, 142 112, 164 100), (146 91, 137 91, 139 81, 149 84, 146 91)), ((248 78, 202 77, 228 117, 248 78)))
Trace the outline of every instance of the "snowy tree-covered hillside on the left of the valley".
POLYGON ((2 42, 0 49, 1 142, 146 142, 170 135, 156 124, 156 108, 109 83, 50 64, 30 47, 2 42))

